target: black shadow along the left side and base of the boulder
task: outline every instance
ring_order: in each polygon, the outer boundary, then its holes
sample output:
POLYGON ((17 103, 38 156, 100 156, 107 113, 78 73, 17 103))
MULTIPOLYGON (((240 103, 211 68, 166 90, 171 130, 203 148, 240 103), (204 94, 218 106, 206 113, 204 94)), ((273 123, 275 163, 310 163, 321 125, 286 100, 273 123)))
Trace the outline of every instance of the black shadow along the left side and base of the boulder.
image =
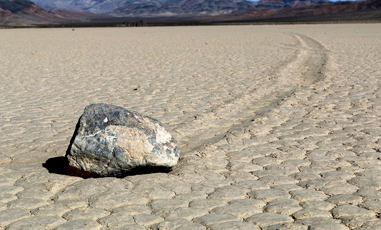
MULTIPOLYGON (((67 175, 67 176, 73 176, 73 177, 81 177, 84 179, 102 177, 97 173, 86 172, 86 171, 70 166, 69 161, 66 158, 66 156, 70 153, 71 146, 73 145, 74 139, 78 134, 78 129, 80 127, 80 120, 81 120, 81 117, 78 119, 77 125, 75 126, 75 130, 74 130, 73 136, 70 139, 70 143, 69 143, 69 146, 67 147, 65 156, 49 158, 48 160, 45 161, 45 163, 42 163, 42 167, 46 168, 49 173, 67 175)), ((123 175, 118 175, 114 177, 124 178, 126 176, 150 174, 150 173, 168 173, 170 171, 171 169, 168 169, 165 167, 136 167, 133 170, 130 170, 124 173, 123 175)))

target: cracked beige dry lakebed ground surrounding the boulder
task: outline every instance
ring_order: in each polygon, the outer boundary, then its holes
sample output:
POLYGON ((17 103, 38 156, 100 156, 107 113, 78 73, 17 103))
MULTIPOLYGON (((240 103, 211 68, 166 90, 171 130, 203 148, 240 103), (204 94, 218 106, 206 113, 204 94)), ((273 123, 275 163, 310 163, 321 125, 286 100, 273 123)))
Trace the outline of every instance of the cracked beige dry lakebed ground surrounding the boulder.
POLYGON ((0 30, 0 230, 381 229, 380 63, 381 24, 0 30), (178 166, 49 173, 95 102, 178 166))

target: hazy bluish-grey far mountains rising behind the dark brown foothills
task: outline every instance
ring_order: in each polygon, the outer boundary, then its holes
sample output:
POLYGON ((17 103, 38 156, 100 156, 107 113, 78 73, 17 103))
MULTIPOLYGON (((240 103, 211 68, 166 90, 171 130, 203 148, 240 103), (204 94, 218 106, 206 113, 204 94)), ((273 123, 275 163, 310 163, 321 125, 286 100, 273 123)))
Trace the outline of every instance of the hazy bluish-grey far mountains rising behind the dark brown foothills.
POLYGON ((65 9, 113 16, 222 15, 254 9, 280 9, 328 0, 33 0, 46 9, 65 9))

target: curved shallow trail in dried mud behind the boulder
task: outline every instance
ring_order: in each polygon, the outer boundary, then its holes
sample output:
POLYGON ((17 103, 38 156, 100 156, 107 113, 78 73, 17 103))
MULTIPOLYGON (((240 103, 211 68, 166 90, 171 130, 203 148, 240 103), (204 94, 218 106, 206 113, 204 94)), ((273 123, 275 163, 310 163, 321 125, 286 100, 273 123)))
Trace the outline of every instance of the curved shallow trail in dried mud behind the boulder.
MULTIPOLYGON (((326 49, 318 41, 298 33, 291 33, 298 41, 299 49, 293 60, 282 63, 268 72, 262 73, 270 77, 266 85, 259 85, 249 93, 236 97, 231 101, 212 107, 205 114, 193 115, 195 119, 179 124, 177 127, 197 124, 204 128, 188 136, 191 140, 184 143, 187 152, 197 151, 202 146, 211 145, 225 138, 230 133, 245 129, 258 117, 265 114, 297 88, 318 82, 324 78, 323 69, 326 63, 326 49), (262 94, 261 88, 266 89, 262 94), (260 102, 260 103, 256 103, 260 102), (258 106, 260 104, 260 106, 258 106), (230 113, 234 119, 226 119, 224 113, 230 113)), ((176 132, 176 129, 173 130, 176 132)), ((255 135, 255 131, 252 133, 255 135)))

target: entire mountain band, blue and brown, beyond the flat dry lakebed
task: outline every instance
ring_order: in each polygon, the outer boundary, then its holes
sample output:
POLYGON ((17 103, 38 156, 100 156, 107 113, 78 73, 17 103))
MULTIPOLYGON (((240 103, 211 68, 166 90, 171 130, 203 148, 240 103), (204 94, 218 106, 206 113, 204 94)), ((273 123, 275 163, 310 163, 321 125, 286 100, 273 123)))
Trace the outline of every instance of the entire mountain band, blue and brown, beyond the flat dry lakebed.
POLYGON ((381 22, 381 0, 343 2, 326 2, 326 0, 35 1, 49 4, 49 6, 45 4, 41 7, 29 0, 0 0, 0 26, 381 22))

